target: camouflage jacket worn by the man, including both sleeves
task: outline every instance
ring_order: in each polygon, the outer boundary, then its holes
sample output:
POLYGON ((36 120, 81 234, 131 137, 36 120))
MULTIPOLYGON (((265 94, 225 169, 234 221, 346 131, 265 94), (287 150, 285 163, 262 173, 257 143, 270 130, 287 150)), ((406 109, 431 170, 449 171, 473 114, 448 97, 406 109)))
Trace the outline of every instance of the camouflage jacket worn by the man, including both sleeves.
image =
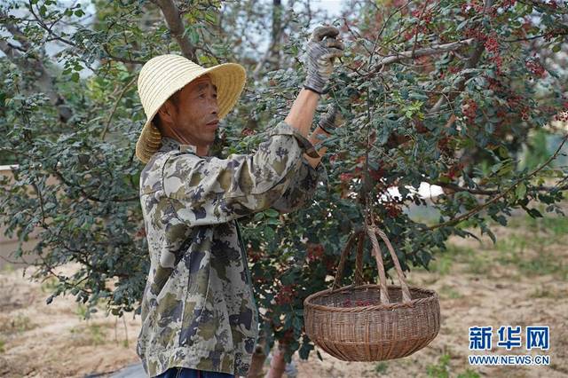
POLYGON ((258 314, 237 219, 299 209, 319 181, 312 144, 280 122, 255 154, 226 159, 162 138, 140 176, 150 253, 137 353, 150 376, 170 367, 246 375, 258 314))

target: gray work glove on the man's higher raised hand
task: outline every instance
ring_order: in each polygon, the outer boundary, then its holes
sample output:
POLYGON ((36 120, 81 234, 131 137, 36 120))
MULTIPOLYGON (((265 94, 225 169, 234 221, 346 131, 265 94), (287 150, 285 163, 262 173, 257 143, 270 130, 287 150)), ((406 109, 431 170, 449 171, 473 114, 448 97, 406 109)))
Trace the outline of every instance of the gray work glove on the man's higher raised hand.
POLYGON ((319 94, 327 93, 327 83, 334 69, 334 59, 343 56, 343 43, 335 39, 336 35, 339 35, 339 30, 334 27, 319 26, 313 30, 304 53, 304 65, 307 71, 305 89, 319 94))

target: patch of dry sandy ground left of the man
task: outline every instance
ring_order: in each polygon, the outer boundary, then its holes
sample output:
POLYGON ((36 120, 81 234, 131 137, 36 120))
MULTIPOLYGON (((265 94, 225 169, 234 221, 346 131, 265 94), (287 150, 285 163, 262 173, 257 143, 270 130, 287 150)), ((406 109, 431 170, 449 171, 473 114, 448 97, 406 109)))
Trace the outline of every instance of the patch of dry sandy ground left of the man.
POLYGON ((139 318, 116 322, 101 309, 83 320, 72 297, 45 304, 49 282, 30 282, 21 270, 3 272, 0 287, 0 376, 84 377, 138 362, 139 318))

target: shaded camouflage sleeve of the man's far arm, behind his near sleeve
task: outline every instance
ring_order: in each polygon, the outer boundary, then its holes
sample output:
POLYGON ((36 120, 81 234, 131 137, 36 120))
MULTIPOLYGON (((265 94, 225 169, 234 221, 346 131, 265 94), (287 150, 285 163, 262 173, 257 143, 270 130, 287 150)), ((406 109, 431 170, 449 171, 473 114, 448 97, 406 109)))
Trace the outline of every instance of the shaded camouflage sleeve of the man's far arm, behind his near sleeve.
POLYGON ((290 213, 304 207, 313 198, 318 183, 322 181, 327 186, 327 170, 320 162, 316 168, 302 156, 302 164, 292 182, 282 196, 272 204, 272 209, 280 213, 290 213))

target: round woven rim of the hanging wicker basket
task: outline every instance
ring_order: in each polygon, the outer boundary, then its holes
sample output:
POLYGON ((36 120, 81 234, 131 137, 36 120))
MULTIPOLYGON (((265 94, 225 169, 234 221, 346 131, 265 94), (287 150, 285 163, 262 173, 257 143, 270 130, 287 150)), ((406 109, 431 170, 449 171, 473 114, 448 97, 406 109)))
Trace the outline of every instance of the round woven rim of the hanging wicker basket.
MULTIPOLYGON (((312 303, 312 301, 315 298, 318 298, 319 296, 323 296, 323 295, 332 294, 332 291, 335 294, 335 293, 341 293, 341 292, 349 291, 349 290, 359 291, 359 289, 365 289, 365 288, 380 288, 380 285, 366 284, 366 285, 361 285, 361 286, 358 286, 358 287, 348 285, 348 286, 340 287, 336 290, 333 290, 333 288, 327 288, 326 290, 321 290, 321 291, 314 293, 312 295, 308 295, 304 299, 304 308, 306 310, 319 310, 319 311, 328 311, 328 312, 359 312, 359 311, 392 310, 392 309, 397 309, 397 308, 400 308, 400 307, 413 307, 415 304, 439 302, 438 294, 434 290, 431 290, 429 288, 424 288, 424 287, 408 286, 408 289, 410 291, 424 293, 424 294, 427 294, 428 296, 423 297, 423 298, 413 299, 412 301, 410 301, 410 303, 404 303, 404 302, 396 302, 396 303, 388 303, 388 304, 380 303, 380 304, 372 304, 372 305, 368 305, 368 306, 353 306, 353 307, 333 307, 333 306, 327 306, 325 304, 312 303)), ((400 285, 387 285, 387 289, 390 289, 390 288, 402 290, 402 287, 400 285)))

